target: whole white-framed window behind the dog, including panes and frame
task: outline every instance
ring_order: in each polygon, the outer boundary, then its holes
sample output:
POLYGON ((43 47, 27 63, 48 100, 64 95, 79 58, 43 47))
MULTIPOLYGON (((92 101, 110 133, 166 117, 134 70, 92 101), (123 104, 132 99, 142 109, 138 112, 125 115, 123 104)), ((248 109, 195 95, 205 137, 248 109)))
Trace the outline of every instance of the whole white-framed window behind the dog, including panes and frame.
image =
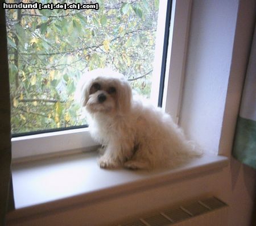
MULTIPOLYGON (((42 1, 42 4, 48 3, 42 1)), ((182 83, 190 2, 143 0, 98 1, 98 4, 98 10, 67 11, 17 10, 8 5, 14 133, 85 124, 80 106, 73 102, 76 82, 86 70, 105 66, 125 74, 134 89, 156 105, 163 101, 164 109, 174 112, 176 117, 180 92, 174 95, 175 112, 168 107, 172 102, 168 90, 175 90, 172 87, 180 87, 182 83), (181 26, 174 26, 175 23, 181 26), (184 39, 177 41, 176 33, 184 39), (180 63, 173 74, 175 51, 180 52, 180 63), (166 74, 165 80, 161 79, 161 73, 166 74), (175 77, 179 81, 171 82, 175 77), (159 87, 162 87, 160 98, 159 87)), ((97 144, 90 139, 88 128, 48 131, 13 138, 13 157, 90 149, 94 145, 97 144)))

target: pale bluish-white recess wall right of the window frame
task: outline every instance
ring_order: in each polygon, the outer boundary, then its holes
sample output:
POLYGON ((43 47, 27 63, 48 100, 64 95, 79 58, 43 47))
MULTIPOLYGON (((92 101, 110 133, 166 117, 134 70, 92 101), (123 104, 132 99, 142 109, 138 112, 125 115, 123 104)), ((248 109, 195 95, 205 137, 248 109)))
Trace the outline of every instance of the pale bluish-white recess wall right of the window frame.
POLYGON ((180 125, 209 152, 218 152, 232 62, 238 0, 192 5, 180 125))

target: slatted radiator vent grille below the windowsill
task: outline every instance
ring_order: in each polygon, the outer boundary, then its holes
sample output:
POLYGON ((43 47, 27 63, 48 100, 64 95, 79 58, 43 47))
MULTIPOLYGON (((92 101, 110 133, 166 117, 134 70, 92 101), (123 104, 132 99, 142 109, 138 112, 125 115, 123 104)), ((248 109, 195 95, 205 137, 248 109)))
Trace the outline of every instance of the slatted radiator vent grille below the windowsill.
POLYGON ((192 217, 206 214, 207 212, 226 207, 227 204, 216 197, 198 200, 196 202, 184 204, 177 208, 164 210, 155 215, 143 217, 134 221, 119 224, 118 226, 167 226, 180 221, 188 220, 192 217))

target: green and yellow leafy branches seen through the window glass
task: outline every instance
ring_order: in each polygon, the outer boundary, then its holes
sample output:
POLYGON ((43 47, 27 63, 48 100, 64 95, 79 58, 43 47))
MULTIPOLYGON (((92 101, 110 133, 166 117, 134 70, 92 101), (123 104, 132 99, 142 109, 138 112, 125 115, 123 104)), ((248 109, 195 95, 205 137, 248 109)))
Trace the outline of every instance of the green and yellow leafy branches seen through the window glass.
POLYGON ((97 3, 99 10, 6 10, 13 133, 86 124, 73 99, 86 70, 118 70, 150 97, 159 0, 97 3))

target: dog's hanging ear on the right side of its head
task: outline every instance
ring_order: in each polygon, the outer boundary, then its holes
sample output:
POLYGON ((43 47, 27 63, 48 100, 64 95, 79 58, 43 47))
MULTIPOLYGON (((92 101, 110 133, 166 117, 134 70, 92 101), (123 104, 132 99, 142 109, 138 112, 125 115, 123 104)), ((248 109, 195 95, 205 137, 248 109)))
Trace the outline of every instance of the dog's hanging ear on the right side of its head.
POLYGON ((126 114, 131 108, 131 86, 126 79, 120 79, 117 91, 117 110, 126 114))

